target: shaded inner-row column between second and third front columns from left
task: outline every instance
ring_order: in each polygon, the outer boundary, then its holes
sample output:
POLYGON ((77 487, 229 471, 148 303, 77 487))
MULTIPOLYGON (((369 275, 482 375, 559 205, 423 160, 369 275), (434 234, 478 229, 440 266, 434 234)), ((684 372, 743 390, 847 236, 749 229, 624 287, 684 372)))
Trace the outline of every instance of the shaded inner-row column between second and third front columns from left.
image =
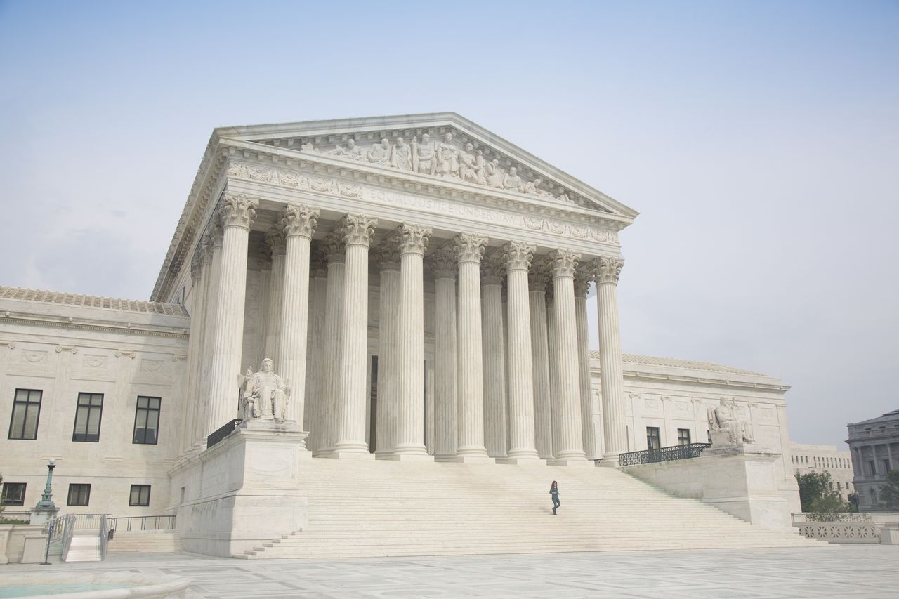
POLYGON ((316 443, 316 456, 326 456, 334 451, 337 440, 337 406, 341 396, 341 372, 343 364, 343 284, 346 264, 343 230, 337 228, 325 237, 322 244, 327 256, 328 282, 325 291, 325 344, 324 377, 322 386, 321 412, 318 425, 321 433, 316 443))

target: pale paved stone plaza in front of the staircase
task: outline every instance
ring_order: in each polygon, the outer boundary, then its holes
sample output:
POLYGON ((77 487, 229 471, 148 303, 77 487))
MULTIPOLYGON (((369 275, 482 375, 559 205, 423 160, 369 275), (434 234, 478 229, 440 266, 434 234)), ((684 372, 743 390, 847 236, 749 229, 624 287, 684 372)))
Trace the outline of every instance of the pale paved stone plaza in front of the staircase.
POLYGON ((0 577, 75 569, 187 577, 194 599, 899 596, 895 545, 260 561, 116 553, 99 564, 0 566, 0 577))

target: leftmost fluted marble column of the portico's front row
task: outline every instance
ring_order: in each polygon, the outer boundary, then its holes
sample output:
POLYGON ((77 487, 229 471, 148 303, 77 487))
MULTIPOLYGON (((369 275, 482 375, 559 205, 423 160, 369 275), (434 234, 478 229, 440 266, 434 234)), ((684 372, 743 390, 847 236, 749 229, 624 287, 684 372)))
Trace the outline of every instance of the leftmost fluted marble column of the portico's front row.
POLYGON ((218 273, 218 309, 212 340, 206 434, 237 416, 237 377, 244 347, 246 250, 259 201, 225 192, 219 219, 225 229, 218 273))

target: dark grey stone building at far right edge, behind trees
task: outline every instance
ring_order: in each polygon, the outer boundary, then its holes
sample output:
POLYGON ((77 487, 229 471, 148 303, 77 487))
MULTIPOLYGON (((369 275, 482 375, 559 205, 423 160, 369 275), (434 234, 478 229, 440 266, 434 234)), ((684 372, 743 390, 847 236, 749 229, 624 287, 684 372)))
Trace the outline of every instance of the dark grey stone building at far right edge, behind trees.
POLYGON ((849 451, 855 470, 855 490, 859 510, 880 509, 878 492, 886 482, 886 472, 899 469, 899 410, 846 425, 849 451))

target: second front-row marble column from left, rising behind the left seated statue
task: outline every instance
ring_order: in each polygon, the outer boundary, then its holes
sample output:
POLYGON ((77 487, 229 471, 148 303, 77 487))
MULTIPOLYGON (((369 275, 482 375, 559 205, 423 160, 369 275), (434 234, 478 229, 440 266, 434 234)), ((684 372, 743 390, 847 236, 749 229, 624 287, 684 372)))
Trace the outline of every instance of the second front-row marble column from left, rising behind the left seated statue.
MULTIPOLYGON (((303 425, 306 407, 306 344, 309 317, 309 246, 318 222, 318 210, 288 204, 281 211, 284 230, 284 284, 281 291, 280 344, 276 364, 290 387, 285 420, 303 425)), ((278 419, 278 415, 275 415, 278 419)), ((305 447, 305 443, 303 444, 305 447)))

